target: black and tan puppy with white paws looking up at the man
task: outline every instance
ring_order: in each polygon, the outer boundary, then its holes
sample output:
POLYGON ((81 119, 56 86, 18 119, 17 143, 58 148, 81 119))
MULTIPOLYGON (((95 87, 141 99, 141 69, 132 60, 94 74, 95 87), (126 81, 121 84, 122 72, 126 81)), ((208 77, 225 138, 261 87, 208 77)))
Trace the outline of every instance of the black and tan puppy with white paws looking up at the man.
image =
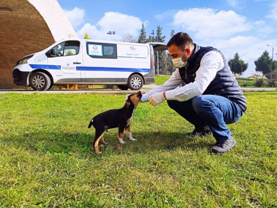
POLYGON ((124 129, 126 136, 130 139, 130 141, 136 140, 132 137, 130 125, 133 120, 134 110, 138 106, 139 102, 141 102, 141 97, 142 94, 140 91, 135 94, 130 94, 123 108, 107 110, 91 119, 88 128, 91 126, 95 128, 93 147, 96 154, 101 153, 98 150, 98 142, 102 145, 107 144, 104 141, 103 135, 105 131, 108 131, 108 129, 118 127, 118 140, 121 144, 125 143, 122 139, 124 129))

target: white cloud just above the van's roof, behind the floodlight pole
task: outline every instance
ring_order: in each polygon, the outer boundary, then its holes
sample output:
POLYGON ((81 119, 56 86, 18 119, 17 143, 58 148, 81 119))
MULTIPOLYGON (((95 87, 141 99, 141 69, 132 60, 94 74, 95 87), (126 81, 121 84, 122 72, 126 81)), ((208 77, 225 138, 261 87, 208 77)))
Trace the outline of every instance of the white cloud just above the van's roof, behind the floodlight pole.
MULTIPOLYGON (((107 32, 115 31, 115 35, 112 35, 112 40, 119 41, 126 33, 137 37, 142 23, 138 17, 119 12, 106 12, 95 25, 86 23, 77 31, 77 34, 80 38, 83 38, 84 34, 88 33, 91 39, 110 40, 110 35, 107 32)), ((147 25, 148 21, 144 23, 147 25)))

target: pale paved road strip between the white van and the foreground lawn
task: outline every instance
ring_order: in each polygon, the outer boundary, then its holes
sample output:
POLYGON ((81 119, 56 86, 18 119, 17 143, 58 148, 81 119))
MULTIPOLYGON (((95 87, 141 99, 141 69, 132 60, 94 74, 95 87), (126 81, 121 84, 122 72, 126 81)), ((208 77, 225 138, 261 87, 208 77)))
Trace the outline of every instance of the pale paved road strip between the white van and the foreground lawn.
MULTIPOLYGON (((157 85, 144 85, 140 90, 142 93, 148 92, 149 90, 155 88, 157 85)), ((259 88, 259 87, 243 87, 241 88, 243 92, 257 92, 257 91, 276 91, 277 88, 259 88)), ((32 94, 32 93, 41 93, 41 94, 130 94, 137 91, 134 90, 48 90, 48 91, 38 91, 34 90, 0 90, 0 94, 3 93, 23 93, 23 94, 32 94)))

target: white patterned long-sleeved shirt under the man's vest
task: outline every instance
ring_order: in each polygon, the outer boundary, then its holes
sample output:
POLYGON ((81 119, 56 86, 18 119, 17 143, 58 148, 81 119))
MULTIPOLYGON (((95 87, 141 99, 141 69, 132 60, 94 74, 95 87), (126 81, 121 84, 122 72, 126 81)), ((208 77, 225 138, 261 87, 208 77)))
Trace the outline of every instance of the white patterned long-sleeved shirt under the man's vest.
POLYGON ((195 73, 196 77, 194 82, 176 88, 184 82, 177 68, 175 72, 172 73, 171 78, 163 85, 157 86, 153 90, 143 94, 141 101, 147 102, 152 94, 163 91, 165 91, 167 100, 190 100, 195 96, 201 95, 207 89, 211 81, 215 78, 216 73, 221 70, 223 66, 224 60, 221 54, 217 51, 210 51, 202 57, 199 69, 195 73))

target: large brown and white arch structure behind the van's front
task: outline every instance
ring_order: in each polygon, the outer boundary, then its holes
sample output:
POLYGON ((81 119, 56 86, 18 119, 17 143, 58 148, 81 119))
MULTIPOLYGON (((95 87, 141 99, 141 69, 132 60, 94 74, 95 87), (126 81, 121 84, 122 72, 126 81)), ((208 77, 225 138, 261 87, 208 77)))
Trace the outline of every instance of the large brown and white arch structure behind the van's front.
POLYGON ((0 89, 18 88, 12 78, 18 59, 78 37, 56 0, 1 0, 0 27, 0 89))

